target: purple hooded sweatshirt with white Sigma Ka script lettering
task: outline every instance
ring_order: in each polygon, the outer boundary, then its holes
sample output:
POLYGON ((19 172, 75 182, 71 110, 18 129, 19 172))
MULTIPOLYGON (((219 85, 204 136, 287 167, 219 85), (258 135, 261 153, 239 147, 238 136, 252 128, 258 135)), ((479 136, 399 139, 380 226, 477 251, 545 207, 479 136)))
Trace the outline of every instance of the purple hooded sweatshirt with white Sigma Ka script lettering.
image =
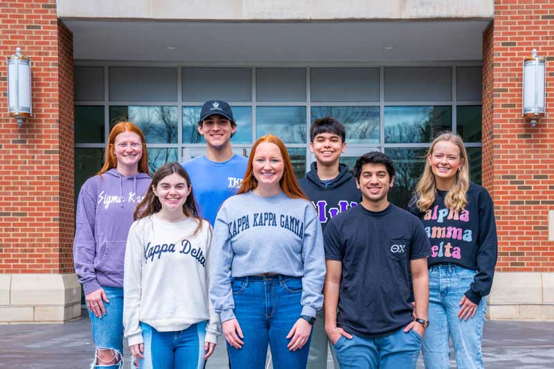
POLYGON ((73 260, 84 294, 100 287, 123 287, 125 243, 133 212, 152 178, 123 177, 116 169, 84 182, 75 220, 73 260))

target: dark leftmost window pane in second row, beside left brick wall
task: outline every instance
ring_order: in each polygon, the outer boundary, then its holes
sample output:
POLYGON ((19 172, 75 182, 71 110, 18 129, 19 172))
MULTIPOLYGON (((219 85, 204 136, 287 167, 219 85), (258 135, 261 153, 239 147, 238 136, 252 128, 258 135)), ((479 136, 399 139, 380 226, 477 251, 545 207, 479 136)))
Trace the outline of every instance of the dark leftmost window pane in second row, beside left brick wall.
POLYGON ((75 143, 104 142, 104 106, 75 106, 75 143))

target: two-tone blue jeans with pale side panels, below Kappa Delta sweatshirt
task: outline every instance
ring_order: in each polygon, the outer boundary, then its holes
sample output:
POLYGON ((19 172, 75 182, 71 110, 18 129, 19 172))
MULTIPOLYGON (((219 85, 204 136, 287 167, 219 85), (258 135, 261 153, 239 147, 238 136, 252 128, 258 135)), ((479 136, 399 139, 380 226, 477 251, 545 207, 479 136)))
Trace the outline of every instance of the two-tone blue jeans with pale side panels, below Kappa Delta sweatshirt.
POLYGON ((141 328, 144 341, 144 359, 139 359, 141 369, 204 368, 206 321, 175 332, 159 332, 142 322, 141 328))

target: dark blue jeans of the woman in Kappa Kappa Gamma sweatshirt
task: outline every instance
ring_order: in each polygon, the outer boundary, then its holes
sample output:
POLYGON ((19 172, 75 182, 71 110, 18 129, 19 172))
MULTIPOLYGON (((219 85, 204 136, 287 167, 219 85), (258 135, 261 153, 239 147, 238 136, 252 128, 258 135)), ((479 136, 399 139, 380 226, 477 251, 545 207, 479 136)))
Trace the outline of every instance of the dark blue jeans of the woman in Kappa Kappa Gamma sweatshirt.
POLYGON ((286 338, 301 315, 302 279, 247 276, 233 278, 231 285, 235 316, 244 335, 240 349, 227 343, 231 368, 263 369, 269 343, 274 369, 304 369, 310 340, 293 352, 286 338))

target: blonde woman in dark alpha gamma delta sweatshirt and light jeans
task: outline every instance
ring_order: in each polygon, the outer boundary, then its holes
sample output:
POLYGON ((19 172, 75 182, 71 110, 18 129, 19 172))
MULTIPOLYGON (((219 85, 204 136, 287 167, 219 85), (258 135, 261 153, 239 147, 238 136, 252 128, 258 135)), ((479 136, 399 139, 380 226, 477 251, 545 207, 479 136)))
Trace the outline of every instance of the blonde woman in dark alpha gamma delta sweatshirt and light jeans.
POLYGON ((497 262, 497 231, 492 199, 470 182, 467 164, 461 137, 439 135, 409 205, 431 241, 431 325, 422 346, 427 369, 449 368, 449 338, 458 368, 483 368, 485 296, 497 262))

